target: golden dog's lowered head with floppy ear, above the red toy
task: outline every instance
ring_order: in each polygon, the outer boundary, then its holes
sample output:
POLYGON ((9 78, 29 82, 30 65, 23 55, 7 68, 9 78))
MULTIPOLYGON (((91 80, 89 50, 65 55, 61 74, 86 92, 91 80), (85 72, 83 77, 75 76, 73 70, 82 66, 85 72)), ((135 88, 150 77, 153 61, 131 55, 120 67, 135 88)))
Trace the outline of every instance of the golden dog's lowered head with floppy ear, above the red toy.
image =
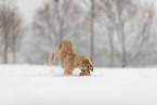
POLYGON ((83 56, 83 58, 80 63, 80 66, 81 66, 81 70, 86 70, 89 74, 90 74, 90 71, 93 71, 93 69, 94 69, 91 61, 87 56, 83 56))

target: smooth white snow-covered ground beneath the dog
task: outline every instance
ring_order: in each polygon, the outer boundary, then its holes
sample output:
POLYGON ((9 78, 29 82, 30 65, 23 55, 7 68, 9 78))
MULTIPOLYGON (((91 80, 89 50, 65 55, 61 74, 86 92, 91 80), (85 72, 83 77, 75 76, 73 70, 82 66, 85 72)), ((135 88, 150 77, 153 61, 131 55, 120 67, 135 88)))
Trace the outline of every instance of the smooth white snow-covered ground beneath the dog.
POLYGON ((157 68, 95 68, 91 77, 79 73, 0 65, 0 105, 157 105, 157 68))

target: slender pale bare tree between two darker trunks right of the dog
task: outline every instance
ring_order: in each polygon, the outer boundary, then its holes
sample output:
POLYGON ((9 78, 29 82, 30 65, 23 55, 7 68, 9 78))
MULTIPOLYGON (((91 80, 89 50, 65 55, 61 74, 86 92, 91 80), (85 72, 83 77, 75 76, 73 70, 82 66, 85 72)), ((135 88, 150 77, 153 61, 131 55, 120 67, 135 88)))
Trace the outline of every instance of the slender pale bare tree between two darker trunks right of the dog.
MULTIPOLYGON (((101 12, 103 15, 99 15, 99 16, 103 16, 106 18, 105 23, 102 23, 103 24, 102 26, 106 27, 106 29, 107 29, 107 36, 108 36, 109 49, 110 49, 109 66, 113 67, 114 66, 114 57, 115 57, 114 31, 116 29, 116 27, 115 27, 116 14, 114 11, 114 8, 115 8, 114 1, 113 0, 100 0, 96 8, 103 12, 103 13, 101 12)), ((106 36, 106 35, 104 35, 104 36, 106 36)))

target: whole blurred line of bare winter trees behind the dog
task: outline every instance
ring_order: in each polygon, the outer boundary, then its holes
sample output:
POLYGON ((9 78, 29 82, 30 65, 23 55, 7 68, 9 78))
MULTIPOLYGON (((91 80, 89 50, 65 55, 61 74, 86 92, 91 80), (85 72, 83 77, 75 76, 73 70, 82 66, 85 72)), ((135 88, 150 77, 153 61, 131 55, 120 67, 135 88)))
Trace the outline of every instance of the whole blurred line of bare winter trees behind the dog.
POLYGON ((23 26, 17 8, 3 0, 0 63, 47 64, 55 45, 68 39, 95 66, 156 66, 155 18, 153 5, 136 0, 49 0, 23 26))

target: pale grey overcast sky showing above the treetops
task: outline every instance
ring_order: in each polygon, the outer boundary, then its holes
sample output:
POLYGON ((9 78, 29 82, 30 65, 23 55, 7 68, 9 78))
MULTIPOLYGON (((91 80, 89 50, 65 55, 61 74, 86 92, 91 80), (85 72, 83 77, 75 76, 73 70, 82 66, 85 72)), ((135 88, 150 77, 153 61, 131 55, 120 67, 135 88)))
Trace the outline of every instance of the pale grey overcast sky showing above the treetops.
MULTIPOLYGON (((15 0, 16 5, 18 6, 19 12, 22 16, 25 18, 26 23, 30 23, 32 21, 36 10, 41 8, 45 1, 47 0, 15 0)), ((157 6, 157 0, 146 0, 146 1, 154 2, 155 8, 157 6)))

